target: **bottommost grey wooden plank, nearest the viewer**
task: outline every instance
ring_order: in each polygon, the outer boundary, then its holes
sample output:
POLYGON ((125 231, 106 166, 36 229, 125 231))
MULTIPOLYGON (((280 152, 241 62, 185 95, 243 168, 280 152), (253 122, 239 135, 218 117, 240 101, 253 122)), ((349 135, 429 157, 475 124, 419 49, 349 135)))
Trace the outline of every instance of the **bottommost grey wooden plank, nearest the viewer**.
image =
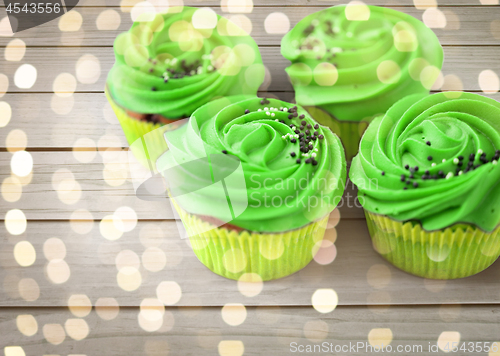
MULTIPOLYGON (((290 355, 298 345, 316 347, 311 355, 333 355, 335 346, 344 347, 347 354, 377 355, 381 351, 366 345, 385 342, 388 352, 390 345, 395 354, 436 355, 444 352, 446 340, 456 341, 458 348, 472 347, 469 342, 496 343, 498 347, 499 316, 492 306, 443 307, 390 307, 385 312, 365 307, 338 307, 332 313, 319 314, 312 308, 248 307, 243 323, 231 326, 224 322, 221 308, 167 308, 163 312, 162 327, 155 332, 147 332, 138 323, 140 311, 136 308, 121 309, 113 320, 102 320, 95 311, 84 319, 79 319, 80 328, 68 327, 67 320, 75 319, 62 308, 8 309, 0 315, 2 339, 0 347, 20 346, 27 356, 41 354, 94 355, 290 355), (36 333, 23 335, 17 327, 18 315, 30 315, 36 320, 36 333), (53 325, 59 325, 61 328, 53 325), (48 325, 48 326, 47 326, 48 325), (44 337, 46 330, 59 330, 52 336, 64 333, 58 345, 51 344, 44 337), (85 331, 88 330, 88 333, 85 331), (444 334, 443 334, 444 333, 444 334), (76 341, 76 337, 87 336, 76 341), (448 337, 446 337, 448 336, 448 337), (229 340, 234 348, 230 348, 229 340), (351 349, 358 345, 359 349, 351 349), (320 345, 327 349, 318 351, 320 345), (330 344, 333 352, 328 352, 330 344), (432 345, 432 349, 429 347, 432 345), (463 346, 462 346, 463 345, 463 346), (397 352, 407 347, 409 352, 397 352), (244 351, 243 351, 244 349, 244 351)), ((155 310, 156 311, 156 310, 155 310)), ((154 316, 154 314, 152 314, 154 316)), ((158 311, 158 316, 161 312, 158 311)), ((26 318, 26 317, 24 317, 26 318)), ((31 319, 31 318, 30 318, 31 319)), ((21 319, 21 321, 27 319, 21 319)), ((159 324, 160 324, 159 323, 159 324)), ((153 322, 151 322, 153 324, 153 322)), ((158 325, 159 325, 158 324, 158 325)), ((21 323, 21 327, 25 324, 21 323)), ((74 324, 73 324, 74 325, 74 324)), ((25 330, 25 329, 23 329, 25 330)), ((28 327, 27 331, 31 331, 28 327)), ((46 335, 49 334, 46 332, 46 335)), ((48 339, 52 339, 48 337, 48 339)), ((55 338, 54 341, 60 341, 55 338)), ((474 344, 475 345, 475 344, 474 344)), ((475 348, 478 350, 478 348, 475 348)), ((340 349, 338 349, 340 351, 340 349)), ((305 353, 305 351, 304 351, 305 353)), ((487 355, 485 352, 457 354, 487 355)), ((490 353, 494 355, 494 353, 490 353)))

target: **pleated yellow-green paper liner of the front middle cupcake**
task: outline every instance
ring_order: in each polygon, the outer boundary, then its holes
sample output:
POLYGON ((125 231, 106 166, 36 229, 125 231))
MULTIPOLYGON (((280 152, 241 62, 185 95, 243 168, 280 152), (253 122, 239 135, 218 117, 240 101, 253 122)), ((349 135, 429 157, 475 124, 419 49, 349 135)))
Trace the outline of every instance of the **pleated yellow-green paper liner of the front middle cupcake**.
POLYGON ((300 229, 282 233, 238 232, 216 227, 172 202, 201 263, 212 272, 235 280, 249 274, 243 278, 253 276, 253 280, 268 281, 304 268, 319 250, 328 221, 326 215, 300 229))

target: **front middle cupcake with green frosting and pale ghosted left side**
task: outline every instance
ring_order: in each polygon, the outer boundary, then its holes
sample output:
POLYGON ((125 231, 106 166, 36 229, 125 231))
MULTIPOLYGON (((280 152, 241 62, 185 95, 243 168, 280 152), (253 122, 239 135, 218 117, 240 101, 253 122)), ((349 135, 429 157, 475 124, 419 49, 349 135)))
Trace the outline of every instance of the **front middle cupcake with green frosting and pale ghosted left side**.
POLYGON ((280 100, 222 98, 165 138, 158 171, 205 266, 271 280, 312 260, 346 179, 328 128, 280 100))

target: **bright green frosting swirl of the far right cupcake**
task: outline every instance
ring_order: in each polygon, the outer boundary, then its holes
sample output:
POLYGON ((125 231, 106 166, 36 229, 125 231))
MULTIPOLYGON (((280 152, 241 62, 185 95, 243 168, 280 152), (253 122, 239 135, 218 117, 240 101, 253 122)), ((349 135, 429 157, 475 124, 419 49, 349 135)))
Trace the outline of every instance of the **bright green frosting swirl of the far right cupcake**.
POLYGON ((500 103, 478 94, 413 95, 376 118, 350 178, 365 210, 434 231, 500 223, 500 103))

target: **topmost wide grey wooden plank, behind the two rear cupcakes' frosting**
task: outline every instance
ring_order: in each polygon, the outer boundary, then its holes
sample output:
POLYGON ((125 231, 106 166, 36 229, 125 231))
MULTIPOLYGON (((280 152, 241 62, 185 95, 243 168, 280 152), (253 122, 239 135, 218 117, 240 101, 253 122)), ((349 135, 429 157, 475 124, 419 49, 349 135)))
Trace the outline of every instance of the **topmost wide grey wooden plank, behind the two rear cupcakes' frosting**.
MULTIPOLYGON (((417 2, 418 3, 418 2, 417 2)), ((213 6, 219 14, 228 14, 220 6, 213 6)), ((308 4, 309 5, 309 4, 308 4)), ((479 5, 479 4, 477 4, 479 5)), ((393 7, 405 12, 415 18, 422 20, 424 10, 411 7, 393 7)), ((113 26, 115 30, 99 30, 96 25, 98 16, 109 8, 78 7, 83 17, 80 30, 75 32, 61 32, 58 20, 37 26, 34 29, 17 33, 14 37, 22 39, 28 46, 111 46, 116 36, 130 28, 132 19, 129 13, 124 13, 120 8, 114 8, 115 17, 119 15, 121 21, 119 26, 113 26)), ((254 7, 250 13, 245 13, 252 23, 251 35, 259 45, 279 45, 283 34, 268 34, 264 28, 266 17, 273 12, 284 13, 293 27, 304 16, 319 11, 321 8, 315 6, 297 7, 254 7)), ((447 18, 446 27, 434 29, 439 40, 444 45, 498 45, 498 34, 495 38, 490 30, 490 24, 500 17, 499 7, 473 6, 443 8, 444 16, 447 18)), ((0 18, 6 15, 5 8, 0 8, 0 18)), ((111 20, 108 20, 111 21, 111 20)), ((113 20, 114 21, 114 20, 113 20)), ((118 23, 117 23, 118 25, 118 23)), ((291 28, 290 27, 290 28, 291 28)), ((0 38, 0 46, 5 46, 11 40, 9 37, 0 38)))

